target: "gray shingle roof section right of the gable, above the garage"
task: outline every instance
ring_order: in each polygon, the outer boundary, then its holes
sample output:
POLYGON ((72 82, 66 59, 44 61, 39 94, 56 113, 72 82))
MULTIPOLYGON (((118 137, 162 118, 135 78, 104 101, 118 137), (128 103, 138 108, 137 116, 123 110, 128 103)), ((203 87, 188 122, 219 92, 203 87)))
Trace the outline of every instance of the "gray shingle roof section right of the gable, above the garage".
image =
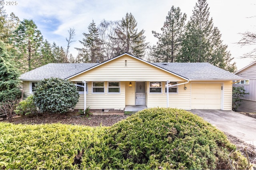
POLYGON ((152 63, 190 80, 242 80, 240 76, 209 63, 152 63))

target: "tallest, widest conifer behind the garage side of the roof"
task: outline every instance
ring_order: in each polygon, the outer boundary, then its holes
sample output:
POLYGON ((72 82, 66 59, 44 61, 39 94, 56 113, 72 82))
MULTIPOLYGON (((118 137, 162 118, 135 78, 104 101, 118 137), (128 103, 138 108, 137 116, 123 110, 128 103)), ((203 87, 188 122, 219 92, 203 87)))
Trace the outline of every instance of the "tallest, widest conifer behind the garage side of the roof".
POLYGON ((231 64, 230 52, 222 44, 221 34, 210 18, 206 0, 198 0, 186 25, 182 48, 177 62, 208 62, 230 72, 236 70, 231 64))

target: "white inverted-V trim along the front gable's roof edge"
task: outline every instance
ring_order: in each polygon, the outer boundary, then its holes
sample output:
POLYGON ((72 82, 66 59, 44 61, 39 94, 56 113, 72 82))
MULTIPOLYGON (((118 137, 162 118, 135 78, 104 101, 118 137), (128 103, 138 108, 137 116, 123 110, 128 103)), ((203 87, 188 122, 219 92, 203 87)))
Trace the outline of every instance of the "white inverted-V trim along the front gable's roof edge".
POLYGON ((92 70, 92 69, 94 69, 94 68, 96 68, 96 67, 98 67, 98 66, 101 66, 101 65, 103 65, 103 64, 105 64, 105 63, 108 63, 108 62, 110 62, 110 61, 112 61, 112 60, 118 59, 119 57, 122 57, 122 56, 124 56, 124 55, 128 55, 128 56, 130 56, 130 57, 132 57, 132 58, 134 58, 134 59, 137 59, 137 60, 139 60, 139 61, 142 61, 142 62, 144 62, 144 63, 147 63, 147 64, 149 64, 149 65, 151 65, 151 66, 154 66, 154 67, 156 67, 156 68, 158 68, 158 69, 160 69, 160 70, 164 70, 164 71, 166 71, 166 72, 168 72, 168 73, 170 73, 170 74, 173 74, 173 75, 175 75, 175 76, 178 76, 178 77, 180 77, 180 78, 182 78, 182 79, 184 79, 184 80, 187 80, 187 81, 189 80, 189 79, 186 78, 186 77, 182 77, 182 76, 180 76, 180 75, 178 75, 178 74, 175 74, 175 73, 173 73, 173 72, 170 72, 170 71, 168 71, 168 70, 166 70, 166 69, 164 69, 164 68, 162 68, 162 67, 159 67, 159 66, 157 66, 157 65, 155 65, 155 64, 152 64, 152 63, 149 63, 148 61, 142 60, 142 59, 140 59, 140 58, 138 58, 138 57, 135 57, 135 56, 133 56, 133 55, 130 55, 130 54, 128 54, 128 53, 124 53, 124 54, 118 55, 117 57, 114 57, 114 58, 112 58, 112 59, 109 59, 109 60, 107 60, 107 61, 104 61, 104 62, 102 62, 102 63, 100 63, 100 64, 97 64, 96 66, 91 67, 91 68, 88 68, 87 70, 84 70, 84 71, 82 71, 82 72, 79 72, 79 73, 77 73, 77 74, 74 74, 73 76, 70 76, 70 77, 66 78, 66 80, 68 80, 68 79, 70 79, 70 78, 73 78, 73 77, 75 77, 75 76, 78 76, 79 74, 82 74, 82 73, 87 72, 87 71, 89 71, 89 70, 92 70))

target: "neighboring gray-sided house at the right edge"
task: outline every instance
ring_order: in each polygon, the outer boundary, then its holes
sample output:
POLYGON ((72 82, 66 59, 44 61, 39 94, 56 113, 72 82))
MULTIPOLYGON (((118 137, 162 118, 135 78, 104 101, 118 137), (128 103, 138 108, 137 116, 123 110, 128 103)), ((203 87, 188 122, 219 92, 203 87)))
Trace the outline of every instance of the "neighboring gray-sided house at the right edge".
POLYGON ((234 86, 244 86, 245 92, 249 93, 244 95, 237 111, 256 112, 256 61, 238 70, 235 74, 244 80, 234 84, 234 86))

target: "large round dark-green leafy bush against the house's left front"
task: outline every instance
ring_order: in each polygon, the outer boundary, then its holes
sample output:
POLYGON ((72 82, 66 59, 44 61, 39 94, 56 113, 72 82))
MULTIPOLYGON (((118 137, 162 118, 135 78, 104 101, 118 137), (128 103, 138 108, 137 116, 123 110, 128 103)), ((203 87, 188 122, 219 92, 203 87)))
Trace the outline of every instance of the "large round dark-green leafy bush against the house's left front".
POLYGON ((69 80, 46 78, 36 84, 34 102, 42 112, 64 113, 79 99, 76 86, 69 80))

